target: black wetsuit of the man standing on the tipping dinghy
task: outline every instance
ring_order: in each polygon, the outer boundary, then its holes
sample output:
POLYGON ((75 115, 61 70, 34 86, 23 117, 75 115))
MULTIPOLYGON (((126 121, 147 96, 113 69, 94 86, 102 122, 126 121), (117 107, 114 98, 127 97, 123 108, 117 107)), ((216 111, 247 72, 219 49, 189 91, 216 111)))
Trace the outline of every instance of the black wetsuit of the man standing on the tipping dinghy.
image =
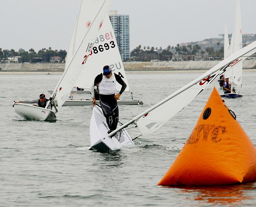
MULTIPOLYGON (((112 73, 112 75, 115 76, 116 82, 118 82, 120 85, 122 85, 122 88, 120 90, 120 94, 122 94, 125 91, 125 88, 127 87, 126 83, 122 80, 122 78, 117 75, 116 73, 112 73)), ((94 80, 94 86, 99 84, 103 79, 103 74, 99 74, 96 76, 94 80)), ((115 99, 115 94, 105 95, 100 94, 100 106, 102 108, 102 112, 107 120, 107 125, 109 126, 109 129, 115 130, 118 125, 118 119, 119 119, 119 111, 118 111, 118 104, 115 99)))

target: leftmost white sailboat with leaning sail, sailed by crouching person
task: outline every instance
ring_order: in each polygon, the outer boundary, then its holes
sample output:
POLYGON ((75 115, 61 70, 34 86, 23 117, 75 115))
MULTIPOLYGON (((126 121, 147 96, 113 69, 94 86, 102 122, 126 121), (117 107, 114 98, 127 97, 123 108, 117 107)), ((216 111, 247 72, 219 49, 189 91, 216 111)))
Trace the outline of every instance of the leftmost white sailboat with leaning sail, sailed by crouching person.
POLYGON ((54 92, 49 99, 50 101, 45 108, 39 108, 29 104, 15 103, 14 110, 18 115, 21 115, 21 117, 24 117, 25 119, 29 118, 29 120, 49 120, 50 117, 52 117, 51 120, 56 119, 55 113, 57 112, 57 108, 55 108, 55 112, 47 108, 50 102, 54 105, 54 99, 57 100, 59 107, 66 101, 81 70, 86 67, 86 61, 90 56, 95 38, 99 34, 99 30, 109 6, 109 0, 81 0, 80 13, 86 13, 86 17, 90 17, 91 19, 81 19, 81 22, 78 22, 78 24, 85 25, 86 21, 90 22, 90 24, 87 24, 88 27, 84 26, 85 29, 82 31, 81 39, 78 45, 74 46, 76 49, 74 49, 73 55, 66 63, 65 71, 57 83, 54 92), (87 49, 85 51, 86 47, 87 49), (41 113, 45 115, 41 116, 41 113))

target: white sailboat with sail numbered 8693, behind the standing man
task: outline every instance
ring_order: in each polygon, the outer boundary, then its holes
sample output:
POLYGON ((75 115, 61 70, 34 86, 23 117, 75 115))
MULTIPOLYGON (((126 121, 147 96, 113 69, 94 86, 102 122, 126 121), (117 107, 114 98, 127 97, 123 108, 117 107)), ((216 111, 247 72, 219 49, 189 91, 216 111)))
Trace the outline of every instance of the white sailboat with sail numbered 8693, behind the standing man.
MULTIPOLYGON (((76 19, 75 25, 78 24, 77 22, 79 22, 80 19, 81 17, 78 16, 78 18, 76 19)), ((79 30, 79 27, 74 28, 72 38, 71 38, 71 43, 69 46, 69 51, 66 58, 67 61, 69 61, 69 56, 72 54, 73 48, 77 44, 76 40, 80 38, 78 30, 79 30)), ((83 70, 81 72, 78 80, 74 84, 74 88, 79 87, 79 88, 83 88, 84 90, 72 90, 71 93, 73 94, 74 93, 75 94, 90 93, 88 89, 92 85, 92 81, 94 80, 95 76, 102 73, 102 68, 104 65, 109 65, 112 71, 118 74, 125 81, 127 85, 125 92, 130 92, 132 94, 132 91, 130 91, 128 80, 126 78, 125 68, 123 66, 121 55, 119 53, 116 37, 114 35, 114 30, 109 20, 109 16, 107 14, 104 19, 104 24, 100 29, 100 33, 95 39, 96 41, 95 41, 94 47, 92 48, 91 57, 86 62, 88 69, 86 68, 86 70, 83 70)), ((90 47, 90 45, 88 45, 87 47, 90 47)), ((120 89, 121 89, 121 86, 117 84, 117 91, 120 89)), ((140 100, 133 100, 133 97, 131 97, 131 100, 118 100, 118 104, 142 105, 143 102, 140 100)), ((66 100, 63 106, 85 106, 85 105, 92 105, 92 100, 70 98, 66 100)))

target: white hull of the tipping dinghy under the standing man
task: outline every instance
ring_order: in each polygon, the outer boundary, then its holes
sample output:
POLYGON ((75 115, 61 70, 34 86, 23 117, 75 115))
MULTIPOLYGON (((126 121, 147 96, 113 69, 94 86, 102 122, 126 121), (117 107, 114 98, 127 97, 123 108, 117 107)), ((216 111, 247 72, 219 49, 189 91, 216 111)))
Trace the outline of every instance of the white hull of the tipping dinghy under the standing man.
MULTIPOLYGON (((121 124, 118 123, 118 127, 121 124)), ((90 120, 90 145, 92 149, 99 152, 109 152, 119 150, 125 145, 133 145, 130 134, 123 130, 110 138, 107 135, 109 130, 100 107, 93 107, 92 118, 90 120)))

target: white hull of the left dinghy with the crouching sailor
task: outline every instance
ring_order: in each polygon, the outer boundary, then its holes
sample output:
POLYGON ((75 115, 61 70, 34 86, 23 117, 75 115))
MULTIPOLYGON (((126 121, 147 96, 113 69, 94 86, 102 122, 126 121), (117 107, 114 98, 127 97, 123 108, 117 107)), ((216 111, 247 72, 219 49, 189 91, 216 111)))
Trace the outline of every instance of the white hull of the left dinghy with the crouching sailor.
POLYGON ((55 121, 56 115, 50 109, 45 109, 26 103, 15 103, 14 111, 26 120, 55 121))

